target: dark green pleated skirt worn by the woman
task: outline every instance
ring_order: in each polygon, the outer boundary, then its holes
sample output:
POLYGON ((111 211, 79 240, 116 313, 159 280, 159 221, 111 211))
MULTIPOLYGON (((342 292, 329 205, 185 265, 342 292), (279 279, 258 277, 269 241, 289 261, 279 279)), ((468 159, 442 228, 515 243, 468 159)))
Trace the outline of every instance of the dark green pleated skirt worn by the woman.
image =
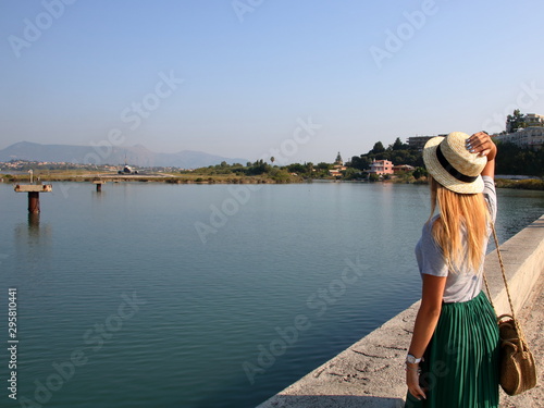
POLYGON ((405 407, 498 407, 498 345, 496 314, 483 292, 469 301, 443 304, 420 363, 426 399, 408 393, 405 407))

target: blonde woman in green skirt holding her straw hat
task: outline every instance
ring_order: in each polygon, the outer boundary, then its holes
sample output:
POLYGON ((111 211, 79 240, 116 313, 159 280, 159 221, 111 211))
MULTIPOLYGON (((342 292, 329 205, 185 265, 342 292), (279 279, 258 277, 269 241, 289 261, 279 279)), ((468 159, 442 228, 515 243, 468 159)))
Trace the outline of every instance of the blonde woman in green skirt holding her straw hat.
POLYGON ((498 407, 498 329, 482 292, 496 152, 484 132, 434 137, 423 149, 432 210, 416 247, 423 287, 406 407, 498 407))

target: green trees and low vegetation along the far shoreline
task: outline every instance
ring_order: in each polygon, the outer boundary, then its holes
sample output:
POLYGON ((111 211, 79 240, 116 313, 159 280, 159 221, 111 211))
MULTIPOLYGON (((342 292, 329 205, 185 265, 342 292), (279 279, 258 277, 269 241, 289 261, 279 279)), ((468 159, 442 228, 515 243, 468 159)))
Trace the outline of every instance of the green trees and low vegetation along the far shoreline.
MULTIPOLYGON (((544 190, 544 147, 539 150, 520 148, 510 143, 499 143, 496 174, 498 188, 544 190), (521 176, 533 174, 533 176, 521 176)), ((274 164, 268 161, 228 164, 223 161, 217 165, 183 170, 178 168, 137 168, 131 165, 85 165, 73 163, 49 163, 12 160, 0 163, 0 182, 28 183, 29 174, 38 183, 44 182, 162 182, 169 184, 290 184, 314 181, 355 182, 355 183, 401 183, 428 184, 426 170, 423 168, 422 153, 410 148, 397 138, 387 148, 381 141, 364 154, 354 156, 344 163, 338 152, 334 163, 274 164), (404 164, 407 171, 395 174, 375 174, 368 169, 374 160, 388 160, 404 164)))

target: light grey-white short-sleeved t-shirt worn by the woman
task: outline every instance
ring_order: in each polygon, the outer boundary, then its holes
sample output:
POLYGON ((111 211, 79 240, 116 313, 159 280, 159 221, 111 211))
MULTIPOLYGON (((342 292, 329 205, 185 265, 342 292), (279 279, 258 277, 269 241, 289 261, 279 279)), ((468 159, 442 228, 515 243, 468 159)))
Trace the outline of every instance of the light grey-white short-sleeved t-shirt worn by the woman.
MULTIPOLYGON (((483 176, 482 178, 484 182, 483 195, 487 201, 492 220, 495 222, 497 213, 495 183, 493 177, 483 176)), ((487 248, 487 238, 483 246, 482 263, 478 271, 468 268, 466 262, 461 265, 455 265, 454 270, 450 270, 444 258, 442 248, 438 247, 432 236, 432 225, 437 217, 435 215, 431 222, 423 225, 421 238, 416 245, 416 259, 418 260, 419 272, 434 276, 447 276, 444 289, 444 301, 446 304, 471 300, 482 290, 483 259, 487 248)), ((465 245, 466 242, 463 242, 465 245)))

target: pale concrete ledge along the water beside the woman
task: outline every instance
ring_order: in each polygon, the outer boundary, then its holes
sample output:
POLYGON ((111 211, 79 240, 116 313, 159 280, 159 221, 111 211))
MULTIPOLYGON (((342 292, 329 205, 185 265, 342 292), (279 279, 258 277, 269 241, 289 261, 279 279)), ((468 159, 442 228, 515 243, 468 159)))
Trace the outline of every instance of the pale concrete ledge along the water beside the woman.
MULTIPOLYGON (((500 246, 512 302, 518 312, 544 269, 544 215, 500 246)), ((498 314, 509 312, 496 251, 485 273, 498 314)), ((404 359, 419 301, 258 408, 401 408, 406 397, 404 359)))

